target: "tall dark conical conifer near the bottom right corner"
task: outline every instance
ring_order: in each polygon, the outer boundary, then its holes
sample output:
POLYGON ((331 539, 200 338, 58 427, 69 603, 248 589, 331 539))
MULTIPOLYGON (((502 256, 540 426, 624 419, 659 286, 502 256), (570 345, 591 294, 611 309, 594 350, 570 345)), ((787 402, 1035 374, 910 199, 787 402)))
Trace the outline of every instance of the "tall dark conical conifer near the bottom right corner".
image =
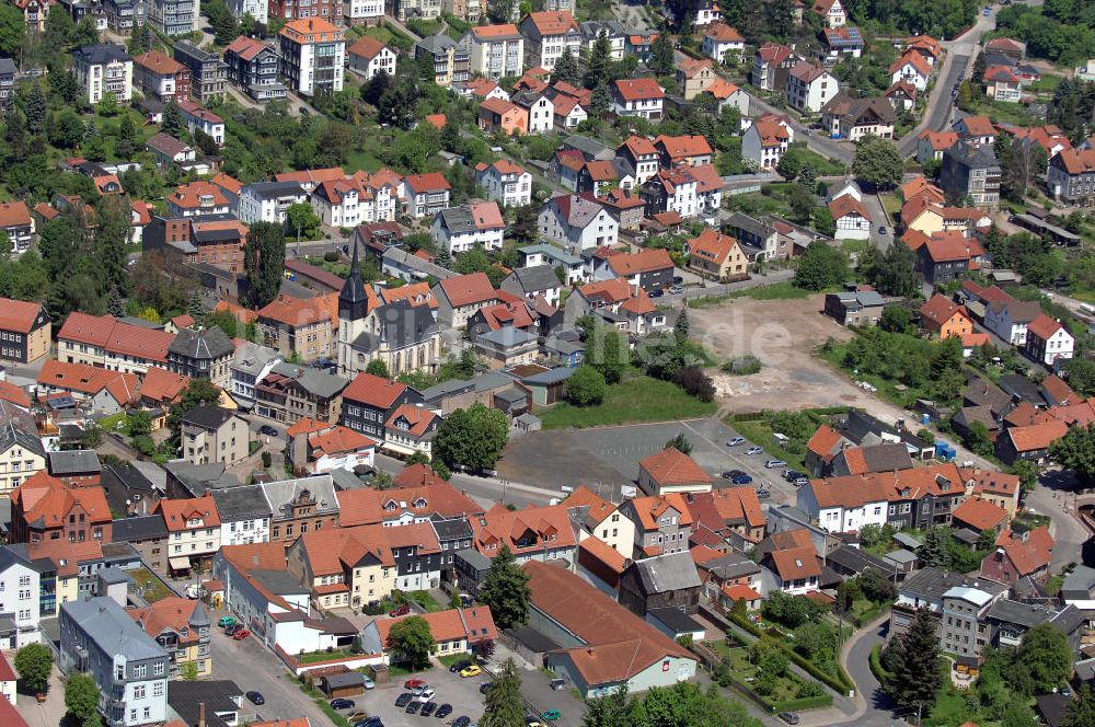
MULTIPOLYGON (((922 709, 934 704, 943 685, 936 627, 931 611, 922 608, 917 611, 909 630, 890 642, 891 646, 900 644, 900 647, 886 660, 891 678, 883 686, 906 709, 922 709)), ((890 651, 891 646, 887 646, 886 651, 890 651)))

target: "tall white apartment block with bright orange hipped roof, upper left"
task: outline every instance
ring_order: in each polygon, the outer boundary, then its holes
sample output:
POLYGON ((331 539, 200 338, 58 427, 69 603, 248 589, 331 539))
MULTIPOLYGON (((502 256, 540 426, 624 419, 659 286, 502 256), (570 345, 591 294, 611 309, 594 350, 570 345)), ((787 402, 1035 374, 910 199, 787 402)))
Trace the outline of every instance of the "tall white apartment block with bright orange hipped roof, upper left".
POLYGON ((322 18, 301 18, 286 23, 278 35, 281 74, 293 92, 313 96, 342 91, 346 65, 342 28, 322 18))

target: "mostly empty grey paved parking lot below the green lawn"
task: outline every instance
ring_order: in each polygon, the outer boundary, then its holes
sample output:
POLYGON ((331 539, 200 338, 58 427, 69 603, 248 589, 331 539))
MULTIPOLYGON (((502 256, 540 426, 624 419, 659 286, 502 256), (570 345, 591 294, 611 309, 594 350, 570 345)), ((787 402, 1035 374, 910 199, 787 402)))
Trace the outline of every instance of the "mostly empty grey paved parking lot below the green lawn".
POLYGON ((765 503, 794 501, 795 487, 780 476, 783 469, 765 469, 769 457, 763 452, 747 455, 751 442, 727 447, 726 440, 737 432, 715 418, 535 431, 509 445, 500 472, 518 482, 552 487, 586 485, 620 501, 621 486, 638 478, 638 461, 664 449, 680 432, 692 445, 692 459, 715 477, 715 487, 733 486, 719 474, 741 470, 752 476, 756 487, 763 484, 771 491, 765 503))

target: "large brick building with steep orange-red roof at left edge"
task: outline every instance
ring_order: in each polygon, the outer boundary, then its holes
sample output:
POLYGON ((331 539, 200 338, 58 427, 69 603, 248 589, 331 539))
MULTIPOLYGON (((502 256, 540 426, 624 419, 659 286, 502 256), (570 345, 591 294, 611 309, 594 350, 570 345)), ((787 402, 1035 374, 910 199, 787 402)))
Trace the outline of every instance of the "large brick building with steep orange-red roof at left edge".
MULTIPOLYGON (((44 458, 39 458, 45 466, 44 458)), ((110 543, 113 517, 103 488, 72 486, 39 469, 10 491, 12 543, 110 543)))

